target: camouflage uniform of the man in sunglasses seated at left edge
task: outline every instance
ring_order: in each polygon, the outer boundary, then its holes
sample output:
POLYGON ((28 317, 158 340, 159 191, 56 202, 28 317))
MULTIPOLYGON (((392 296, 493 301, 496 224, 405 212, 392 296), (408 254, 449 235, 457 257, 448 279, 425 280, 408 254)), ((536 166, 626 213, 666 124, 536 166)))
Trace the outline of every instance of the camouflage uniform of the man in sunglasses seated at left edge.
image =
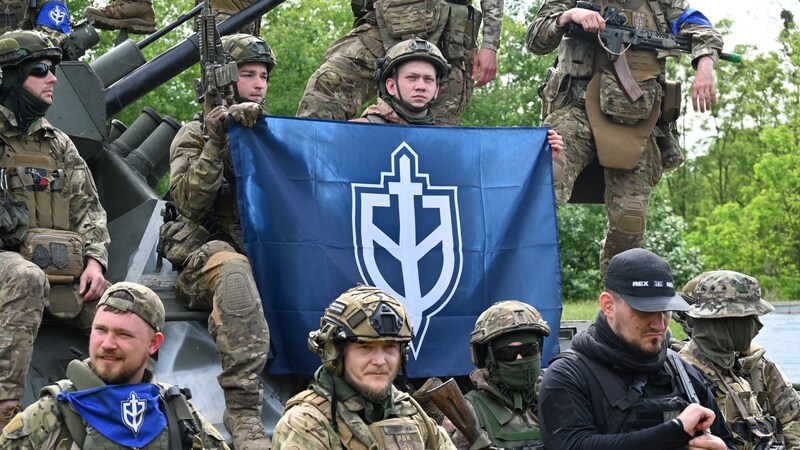
MULTIPOLYGON (((19 35, 41 36, 29 31, 15 33, 15 36, 19 35)), ((56 53, 48 53, 46 57, 57 64, 60 58, 56 55, 60 55, 60 50, 52 45, 47 51, 56 53)), ((39 58, 43 56, 39 55, 39 58)), ((0 135, 3 142, 0 169, 4 171, 0 185, 9 186, 5 194, 11 199, 25 202, 27 198, 29 205, 37 205, 36 213, 31 213, 28 207, 28 225, 80 234, 84 241, 84 260, 90 257, 105 269, 110 242, 106 212, 100 205, 91 172, 69 137, 44 118, 33 121, 26 131, 22 131, 14 112, 3 106, 0 106, 0 135), (46 167, 41 169, 48 174, 42 177, 47 184, 45 189, 37 188, 32 194, 25 186, 13 186, 11 174, 19 166, 46 167), (66 182, 62 189, 54 191, 53 185, 57 180, 53 177, 58 170, 63 171, 66 182), (51 200, 41 201, 43 197, 40 196, 50 196, 51 200), (34 202, 32 197, 38 199, 34 202), (40 209, 45 203, 50 203, 51 209, 40 209)), ((0 400, 18 400, 25 392, 33 341, 48 305, 50 291, 50 283, 42 269, 23 259, 16 250, 0 250, 0 400)), ((90 304, 88 307, 93 306, 90 304)))

